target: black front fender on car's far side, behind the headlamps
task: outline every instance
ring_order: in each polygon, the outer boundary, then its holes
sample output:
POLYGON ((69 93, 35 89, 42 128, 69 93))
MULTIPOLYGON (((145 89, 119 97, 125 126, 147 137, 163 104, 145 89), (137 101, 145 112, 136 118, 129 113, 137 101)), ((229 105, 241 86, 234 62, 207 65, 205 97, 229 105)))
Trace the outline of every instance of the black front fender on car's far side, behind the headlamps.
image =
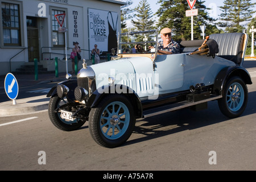
MULTIPOLYGON (((75 100, 75 88, 77 87, 77 80, 66 80, 59 82, 57 85, 63 84, 69 88, 69 92, 67 95, 67 99, 74 101, 75 100)), ((57 96, 57 85, 53 86, 51 90, 49 90, 48 94, 46 97, 55 97, 57 96)))

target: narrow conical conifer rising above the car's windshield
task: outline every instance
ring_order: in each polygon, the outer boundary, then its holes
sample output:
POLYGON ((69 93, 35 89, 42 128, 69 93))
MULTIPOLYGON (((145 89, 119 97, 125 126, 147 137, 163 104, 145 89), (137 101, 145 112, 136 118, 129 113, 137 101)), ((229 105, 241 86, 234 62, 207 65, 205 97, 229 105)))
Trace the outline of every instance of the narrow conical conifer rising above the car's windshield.
POLYGON ((151 19, 153 13, 147 0, 141 0, 139 5, 135 7, 135 18, 131 23, 137 31, 152 30, 154 28, 154 21, 151 19))

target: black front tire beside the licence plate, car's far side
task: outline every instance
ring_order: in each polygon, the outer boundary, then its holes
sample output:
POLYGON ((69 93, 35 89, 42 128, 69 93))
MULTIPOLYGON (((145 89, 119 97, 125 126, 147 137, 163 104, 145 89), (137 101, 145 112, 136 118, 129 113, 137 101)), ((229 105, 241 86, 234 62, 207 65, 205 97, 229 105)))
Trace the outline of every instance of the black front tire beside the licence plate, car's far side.
POLYGON ((63 131, 73 131, 79 129, 82 125, 84 125, 85 121, 81 119, 75 119, 74 121, 66 121, 65 119, 60 117, 60 111, 55 112, 55 109, 57 109, 57 107, 59 107, 62 102, 67 102, 65 101, 65 97, 60 98, 56 96, 52 97, 49 100, 48 115, 51 122, 54 126, 63 131))

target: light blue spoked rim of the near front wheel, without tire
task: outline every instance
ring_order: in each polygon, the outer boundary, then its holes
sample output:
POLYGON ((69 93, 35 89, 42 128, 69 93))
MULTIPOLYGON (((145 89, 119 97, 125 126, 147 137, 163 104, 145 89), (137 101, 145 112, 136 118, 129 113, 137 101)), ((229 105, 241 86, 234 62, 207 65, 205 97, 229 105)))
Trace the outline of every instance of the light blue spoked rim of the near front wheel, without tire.
POLYGON ((104 108, 100 118, 101 133, 107 139, 118 139, 125 134, 130 123, 130 112, 122 102, 112 102, 104 108))

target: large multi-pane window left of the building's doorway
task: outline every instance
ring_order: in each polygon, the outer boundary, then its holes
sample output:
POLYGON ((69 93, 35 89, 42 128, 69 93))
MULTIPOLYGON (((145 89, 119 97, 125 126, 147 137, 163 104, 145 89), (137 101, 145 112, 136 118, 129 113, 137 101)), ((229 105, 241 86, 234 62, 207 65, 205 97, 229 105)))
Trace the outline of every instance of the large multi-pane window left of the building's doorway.
POLYGON ((2 2, 4 46, 20 46, 19 5, 2 2))

